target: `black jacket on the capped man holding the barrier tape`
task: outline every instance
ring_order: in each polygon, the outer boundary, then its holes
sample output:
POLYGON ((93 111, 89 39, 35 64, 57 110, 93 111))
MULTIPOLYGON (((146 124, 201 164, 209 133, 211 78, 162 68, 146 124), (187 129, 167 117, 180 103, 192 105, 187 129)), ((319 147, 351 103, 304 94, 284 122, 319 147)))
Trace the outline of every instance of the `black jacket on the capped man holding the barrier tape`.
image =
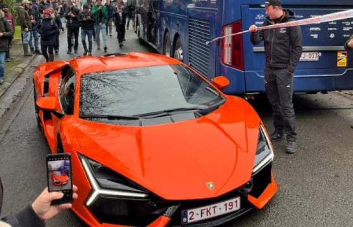
MULTIPOLYGON (((291 10, 284 10, 282 18, 277 23, 285 23, 295 20, 295 14, 291 10)), ((266 17, 263 26, 274 24, 266 17)), ((288 28, 275 28, 251 33, 251 42, 256 45, 264 41, 266 67, 287 69, 293 73, 296 69, 303 51, 302 30, 299 26, 288 28)))

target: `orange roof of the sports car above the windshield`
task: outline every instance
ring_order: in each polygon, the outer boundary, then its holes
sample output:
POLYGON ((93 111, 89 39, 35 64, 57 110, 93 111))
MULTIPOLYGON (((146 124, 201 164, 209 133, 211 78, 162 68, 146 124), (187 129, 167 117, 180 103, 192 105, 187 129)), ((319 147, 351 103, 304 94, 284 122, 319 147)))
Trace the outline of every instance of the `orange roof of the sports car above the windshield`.
POLYGON ((79 74, 132 69, 150 66, 181 64, 165 55, 155 53, 115 53, 101 56, 82 56, 70 61, 79 74))

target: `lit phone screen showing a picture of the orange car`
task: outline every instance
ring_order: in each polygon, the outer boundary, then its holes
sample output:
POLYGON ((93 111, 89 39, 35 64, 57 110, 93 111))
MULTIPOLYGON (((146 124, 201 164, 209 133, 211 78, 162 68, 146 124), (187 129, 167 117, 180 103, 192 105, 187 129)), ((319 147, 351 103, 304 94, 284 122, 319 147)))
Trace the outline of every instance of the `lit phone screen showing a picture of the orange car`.
POLYGON ((71 189, 70 161, 48 161, 48 187, 49 191, 61 191, 71 189))

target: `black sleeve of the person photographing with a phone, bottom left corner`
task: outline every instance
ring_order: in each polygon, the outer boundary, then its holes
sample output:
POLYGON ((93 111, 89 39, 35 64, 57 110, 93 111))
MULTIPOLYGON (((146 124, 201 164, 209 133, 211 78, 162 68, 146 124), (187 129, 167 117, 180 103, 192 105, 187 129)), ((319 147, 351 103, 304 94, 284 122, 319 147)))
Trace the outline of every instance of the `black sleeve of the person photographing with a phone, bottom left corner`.
MULTIPOLYGON (((3 185, 0 178, 0 213, 1 208, 3 205, 3 185)), ((34 213, 32 206, 27 206, 22 211, 9 215, 7 217, 0 219, 1 222, 5 221, 6 223, 10 224, 12 227, 21 227, 21 226, 28 226, 28 227, 42 227, 45 226, 44 221, 40 220, 39 217, 34 213)))

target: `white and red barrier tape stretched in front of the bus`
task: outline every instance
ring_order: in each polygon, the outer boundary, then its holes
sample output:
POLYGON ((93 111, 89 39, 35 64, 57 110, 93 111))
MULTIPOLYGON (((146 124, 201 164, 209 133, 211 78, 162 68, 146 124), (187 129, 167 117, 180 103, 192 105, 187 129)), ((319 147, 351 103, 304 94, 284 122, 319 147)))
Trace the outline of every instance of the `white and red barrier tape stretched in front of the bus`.
MULTIPOLYGON (((258 27, 258 30, 265 30, 265 29, 272 29, 272 28, 286 28, 286 27, 294 27, 294 26, 301 26, 301 25, 309 25, 309 24, 320 24, 320 23, 325 23, 325 22, 330 22, 330 21, 338 21, 338 20, 343 20, 347 18, 353 18, 353 10, 345 10, 345 11, 340 11, 337 13, 332 13, 332 14, 326 14, 318 17, 313 17, 313 18, 308 18, 308 19, 303 19, 303 20, 298 20, 298 21, 290 21, 286 23, 279 23, 279 24, 273 24, 273 25, 267 25, 267 26, 262 26, 258 27)), ((218 39, 223 39, 229 36, 234 36, 234 35, 240 35, 250 32, 249 30, 242 31, 242 32, 237 32, 221 37, 217 37, 212 39, 211 41, 207 41, 206 45, 208 45, 211 42, 214 42, 218 39)))

